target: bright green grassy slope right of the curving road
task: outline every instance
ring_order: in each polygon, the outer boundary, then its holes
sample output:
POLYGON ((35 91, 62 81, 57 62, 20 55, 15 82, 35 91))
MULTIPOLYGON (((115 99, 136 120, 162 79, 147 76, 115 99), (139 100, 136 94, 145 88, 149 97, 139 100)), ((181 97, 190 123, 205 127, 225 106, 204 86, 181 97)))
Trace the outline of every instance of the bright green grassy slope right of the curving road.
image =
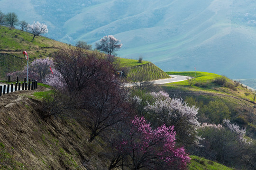
MULTIPOLYGON (((185 76, 194 75, 194 72, 167 73, 185 76)), ((191 86, 188 81, 183 81, 163 85, 163 88, 173 97, 181 97, 183 99, 193 97, 197 102, 202 102, 203 104, 214 100, 224 102, 231 111, 231 121, 236 122, 240 127, 246 128, 247 134, 256 139, 256 125, 250 124, 248 120, 249 110, 256 112, 255 93, 242 85, 235 87, 236 90, 216 85, 212 82, 215 77, 220 76, 212 73, 197 72, 197 77, 194 78, 191 86), (199 86, 195 86, 195 84, 199 86)), ((228 82, 235 85, 230 79, 228 79, 228 82)))

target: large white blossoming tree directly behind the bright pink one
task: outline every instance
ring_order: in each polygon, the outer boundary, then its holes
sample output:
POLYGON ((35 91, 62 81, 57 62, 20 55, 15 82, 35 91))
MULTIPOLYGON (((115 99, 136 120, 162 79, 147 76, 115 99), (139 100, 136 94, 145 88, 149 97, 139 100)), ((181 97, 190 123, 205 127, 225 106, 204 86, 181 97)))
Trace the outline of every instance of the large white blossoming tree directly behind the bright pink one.
MULTIPOLYGON (((177 134, 177 141, 183 144, 199 144, 197 128, 200 127, 197 121, 198 108, 188 106, 182 99, 172 99, 168 93, 150 93, 153 101, 147 101, 145 117, 149 119, 153 127, 163 124, 174 126, 177 134)), ((136 96, 135 102, 142 102, 136 96)), ((145 112, 144 112, 145 114, 145 112)))

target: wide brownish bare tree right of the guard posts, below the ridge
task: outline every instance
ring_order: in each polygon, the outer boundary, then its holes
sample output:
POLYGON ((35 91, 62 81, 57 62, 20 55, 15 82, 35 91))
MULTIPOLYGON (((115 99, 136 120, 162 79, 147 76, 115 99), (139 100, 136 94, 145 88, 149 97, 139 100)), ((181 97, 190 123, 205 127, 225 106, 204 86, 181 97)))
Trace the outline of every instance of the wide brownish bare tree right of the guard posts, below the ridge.
MULTIPOLYGON (((81 48, 62 48, 55 54, 55 69, 64 78, 64 84, 69 93, 82 92, 91 81, 103 78, 109 72, 103 55, 98 52, 88 52, 81 48)), ((114 70, 112 70, 115 73, 114 70)))

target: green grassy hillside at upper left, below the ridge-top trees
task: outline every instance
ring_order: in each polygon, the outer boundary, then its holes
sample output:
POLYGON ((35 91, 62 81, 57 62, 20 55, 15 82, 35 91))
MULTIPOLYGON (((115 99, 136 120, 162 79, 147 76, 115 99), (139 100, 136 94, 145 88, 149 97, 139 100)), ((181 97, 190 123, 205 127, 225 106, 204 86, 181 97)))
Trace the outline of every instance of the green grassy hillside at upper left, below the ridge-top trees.
POLYGON ((23 51, 27 51, 29 62, 33 59, 51 57, 59 47, 68 46, 65 43, 33 35, 6 26, 0 26, 0 77, 6 73, 22 69, 27 64, 23 51))

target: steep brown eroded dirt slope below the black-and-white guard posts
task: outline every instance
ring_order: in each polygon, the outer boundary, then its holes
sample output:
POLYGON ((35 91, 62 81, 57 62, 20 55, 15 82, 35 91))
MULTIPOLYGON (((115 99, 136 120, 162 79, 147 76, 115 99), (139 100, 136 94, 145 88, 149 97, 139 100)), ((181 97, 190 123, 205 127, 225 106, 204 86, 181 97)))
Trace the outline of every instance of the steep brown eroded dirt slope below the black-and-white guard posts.
POLYGON ((34 92, 0 97, 0 169, 103 169, 95 156, 101 148, 87 141, 86 129, 73 119, 41 118, 42 102, 34 92))

